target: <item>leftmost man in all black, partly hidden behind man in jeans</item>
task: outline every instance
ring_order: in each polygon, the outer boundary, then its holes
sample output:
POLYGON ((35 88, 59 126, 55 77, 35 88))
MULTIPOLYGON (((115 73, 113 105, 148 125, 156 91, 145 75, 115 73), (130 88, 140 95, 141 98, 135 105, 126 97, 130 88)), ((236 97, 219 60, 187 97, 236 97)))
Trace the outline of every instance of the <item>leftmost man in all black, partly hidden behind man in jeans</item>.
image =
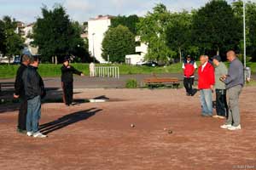
POLYGON ((27 101, 24 92, 24 86, 22 82, 22 74, 26 70, 27 65, 29 65, 29 56, 27 54, 22 55, 21 64, 16 73, 15 79, 15 94, 14 98, 20 98, 20 109, 18 115, 18 133, 26 133, 26 110, 27 110, 27 101))

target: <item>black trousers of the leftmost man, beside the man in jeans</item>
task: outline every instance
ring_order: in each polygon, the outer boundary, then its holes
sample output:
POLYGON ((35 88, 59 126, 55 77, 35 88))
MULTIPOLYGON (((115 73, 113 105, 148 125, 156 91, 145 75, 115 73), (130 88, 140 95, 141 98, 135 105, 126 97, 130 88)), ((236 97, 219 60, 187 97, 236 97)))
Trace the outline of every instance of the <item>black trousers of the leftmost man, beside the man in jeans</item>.
POLYGON ((20 110, 18 115, 18 128, 20 130, 26 130, 26 112, 27 112, 27 100, 20 99, 20 110))

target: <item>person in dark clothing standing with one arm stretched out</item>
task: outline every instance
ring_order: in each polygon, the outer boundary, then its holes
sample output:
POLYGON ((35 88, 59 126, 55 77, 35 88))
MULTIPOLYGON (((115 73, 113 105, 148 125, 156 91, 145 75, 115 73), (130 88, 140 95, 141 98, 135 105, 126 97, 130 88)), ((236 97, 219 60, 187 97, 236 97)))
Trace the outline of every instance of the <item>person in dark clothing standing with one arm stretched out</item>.
POLYGON ((84 77, 81 71, 76 70, 72 65, 69 65, 69 57, 64 59, 61 66, 61 86, 63 89, 63 102, 69 106, 73 103, 73 74, 84 77))

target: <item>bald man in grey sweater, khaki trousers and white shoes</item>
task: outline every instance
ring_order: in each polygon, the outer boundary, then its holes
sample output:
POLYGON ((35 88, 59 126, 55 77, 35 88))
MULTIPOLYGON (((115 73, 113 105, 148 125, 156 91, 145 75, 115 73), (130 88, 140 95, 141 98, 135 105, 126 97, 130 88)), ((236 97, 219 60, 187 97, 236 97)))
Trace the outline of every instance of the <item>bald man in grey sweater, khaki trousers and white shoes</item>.
POLYGON ((244 72, 241 61, 236 58, 236 53, 230 50, 227 53, 227 59, 230 61, 228 75, 222 76, 220 79, 225 83, 229 96, 229 117, 227 122, 221 128, 229 130, 240 130, 240 112, 239 112, 239 96, 241 88, 244 85, 244 72))

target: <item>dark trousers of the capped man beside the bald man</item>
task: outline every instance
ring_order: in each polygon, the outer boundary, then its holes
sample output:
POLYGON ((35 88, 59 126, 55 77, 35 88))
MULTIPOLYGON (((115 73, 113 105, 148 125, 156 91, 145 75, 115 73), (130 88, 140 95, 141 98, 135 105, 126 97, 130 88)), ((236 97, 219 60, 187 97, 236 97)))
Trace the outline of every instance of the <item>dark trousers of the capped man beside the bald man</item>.
POLYGON ((228 117, 229 109, 227 105, 227 98, 225 89, 216 89, 216 112, 218 116, 228 117))

